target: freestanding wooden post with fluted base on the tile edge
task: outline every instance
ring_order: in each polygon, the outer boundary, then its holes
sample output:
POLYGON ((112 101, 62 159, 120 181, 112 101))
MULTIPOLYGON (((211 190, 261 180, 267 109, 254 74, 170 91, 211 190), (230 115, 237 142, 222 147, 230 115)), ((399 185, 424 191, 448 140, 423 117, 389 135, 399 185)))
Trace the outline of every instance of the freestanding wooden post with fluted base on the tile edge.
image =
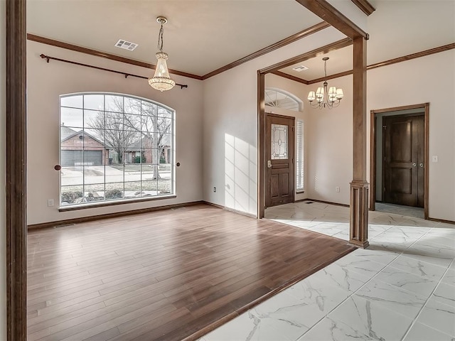
POLYGON ((350 237, 358 247, 368 247, 367 176, 367 43, 353 45, 353 180, 350 183, 350 237))

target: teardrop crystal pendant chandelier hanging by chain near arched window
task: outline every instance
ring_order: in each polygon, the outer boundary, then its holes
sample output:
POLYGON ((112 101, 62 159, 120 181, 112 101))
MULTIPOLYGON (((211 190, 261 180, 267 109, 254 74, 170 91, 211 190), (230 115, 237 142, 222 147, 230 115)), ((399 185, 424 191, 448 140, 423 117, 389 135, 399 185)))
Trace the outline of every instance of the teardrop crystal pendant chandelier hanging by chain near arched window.
POLYGON ((171 90, 176 82, 171 80, 169 77, 168 65, 166 65, 166 59, 168 59, 168 54, 163 52, 163 24, 168 22, 168 19, 164 18, 164 16, 159 16, 156 18, 156 21, 161 23, 161 28, 158 34, 158 49, 159 52, 156 53, 156 59, 158 63, 156 63, 155 75, 152 78, 149 78, 149 85, 156 90, 161 92, 166 90, 171 90))

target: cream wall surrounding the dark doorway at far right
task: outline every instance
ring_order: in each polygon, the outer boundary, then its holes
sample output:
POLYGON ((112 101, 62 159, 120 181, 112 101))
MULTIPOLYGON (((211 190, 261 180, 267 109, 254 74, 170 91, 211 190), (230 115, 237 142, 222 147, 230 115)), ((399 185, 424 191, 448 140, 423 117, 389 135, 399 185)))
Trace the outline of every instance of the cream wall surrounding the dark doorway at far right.
MULTIPOLYGON (((368 71, 367 76, 368 113, 373 109, 429 102, 430 163, 427 165, 429 217, 453 221, 455 221, 454 62, 455 51, 450 50, 387 67, 378 67, 368 71), (431 162, 433 155, 439 156, 438 163, 431 162)), ((368 133, 368 141, 369 139, 368 133)))

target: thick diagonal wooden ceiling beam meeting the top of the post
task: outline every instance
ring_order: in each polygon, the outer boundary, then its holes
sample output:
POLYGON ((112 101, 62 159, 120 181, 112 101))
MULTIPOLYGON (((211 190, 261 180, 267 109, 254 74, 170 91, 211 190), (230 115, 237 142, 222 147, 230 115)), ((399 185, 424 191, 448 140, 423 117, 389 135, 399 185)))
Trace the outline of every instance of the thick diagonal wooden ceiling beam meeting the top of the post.
POLYGON ((338 11, 335 7, 329 4, 326 0, 296 0, 299 4, 304 6, 309 11, 319 16, 323 21, 330 23, 331 26, 336 28, 341 33, 345 34, 351 39, 365 38, 368 39, 368 33, 363 31, 350 21, 343 13, 338 11))

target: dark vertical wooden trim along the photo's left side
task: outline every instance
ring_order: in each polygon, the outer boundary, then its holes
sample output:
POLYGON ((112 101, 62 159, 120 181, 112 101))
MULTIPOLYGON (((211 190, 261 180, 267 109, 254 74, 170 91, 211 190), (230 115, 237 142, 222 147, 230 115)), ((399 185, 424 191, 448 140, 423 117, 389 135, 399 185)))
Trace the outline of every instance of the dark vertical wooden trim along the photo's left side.
POLYGON ((6 0, 6 335, 27 337, 26 0, 6 0))

